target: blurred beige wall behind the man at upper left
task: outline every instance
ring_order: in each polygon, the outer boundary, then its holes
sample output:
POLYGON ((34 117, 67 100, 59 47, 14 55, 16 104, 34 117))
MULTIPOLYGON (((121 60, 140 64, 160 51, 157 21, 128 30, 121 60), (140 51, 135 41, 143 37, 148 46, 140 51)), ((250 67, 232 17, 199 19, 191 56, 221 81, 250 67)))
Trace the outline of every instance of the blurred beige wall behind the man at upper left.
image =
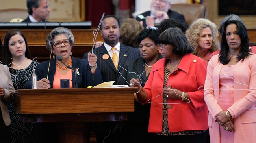
MULTIPOLYGON (((9 8, 27 9, 26 0, 1 0, 0 10, 9 8)), ((49 0, 49 21, 84 21, 85 0, 49 0), (80 7, 81 6, 81 7, 80 7)), ((28 15, 28 14, 27 14, 28 15)), ((2 17, 3 15, 0 15, 2 17)))

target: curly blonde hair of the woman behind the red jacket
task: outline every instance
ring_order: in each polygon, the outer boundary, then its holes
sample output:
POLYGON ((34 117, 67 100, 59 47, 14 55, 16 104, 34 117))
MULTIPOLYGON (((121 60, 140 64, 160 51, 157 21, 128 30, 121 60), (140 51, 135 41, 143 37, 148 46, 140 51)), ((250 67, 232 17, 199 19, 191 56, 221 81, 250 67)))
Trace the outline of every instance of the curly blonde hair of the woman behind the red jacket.
POLYGON ((210 47, 210 51, 214 52, 216 50, 219 49, 219 40, 218 40, 218 30, 215 26, 214 23, 212 23, 210 20, 206 19, 200 19, 199 21, 195 21, 190 27, 189 29, 187 29, 186 31, 186 37, 189 41, 189 43, 194 47, 193 50, 193 55, 198 56, 200 54, 200 48, 198 46, 198 39, 199 36, 202 32, 202 29, 209 27, 210 30, 212 31, 212 36, 213 36, 213 42, 212 42, 212 46, 210 47))

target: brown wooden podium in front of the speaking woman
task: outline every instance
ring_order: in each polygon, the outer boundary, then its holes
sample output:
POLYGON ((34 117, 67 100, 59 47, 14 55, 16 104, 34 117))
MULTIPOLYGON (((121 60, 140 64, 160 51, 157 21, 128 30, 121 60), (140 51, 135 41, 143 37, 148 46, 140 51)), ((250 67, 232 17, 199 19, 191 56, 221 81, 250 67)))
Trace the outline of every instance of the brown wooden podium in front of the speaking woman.
POLYGON ((15 111, 23 122, 56 122, 59 143, 87 143, 89 122, 127 120, 137 88, 19 89, 15 111))

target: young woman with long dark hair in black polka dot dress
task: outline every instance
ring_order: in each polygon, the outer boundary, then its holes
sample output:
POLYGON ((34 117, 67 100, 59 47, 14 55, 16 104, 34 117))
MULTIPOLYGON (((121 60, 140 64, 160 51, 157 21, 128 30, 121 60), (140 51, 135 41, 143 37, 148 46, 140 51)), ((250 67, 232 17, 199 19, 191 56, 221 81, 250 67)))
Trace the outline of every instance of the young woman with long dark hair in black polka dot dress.
MULTIPOLYGON (((24 89, 25 82, 35 69, 37 58, 31 60, 26 38, 17 29, 11 29, 4 38, 3 64, 8 65, 16 89, 24 89)), ((19 114, 14 111, 13 104, 8 105, 11 118, 11 143, 35 143, 33 123, 19 120, 19 114)))

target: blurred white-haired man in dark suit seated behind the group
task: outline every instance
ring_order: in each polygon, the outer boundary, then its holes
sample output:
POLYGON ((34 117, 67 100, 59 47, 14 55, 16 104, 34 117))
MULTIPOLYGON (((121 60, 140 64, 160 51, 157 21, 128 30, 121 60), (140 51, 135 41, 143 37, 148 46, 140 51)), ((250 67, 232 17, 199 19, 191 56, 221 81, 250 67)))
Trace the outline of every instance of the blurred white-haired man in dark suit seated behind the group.
POLYGON ((150 11, 146 11, 137 15, 136 20, 140 21, 144 27, 155 27, 157 24, 161 23, 164 19, 179 19, 181 22, 185 23, 187 27, 189 26, 184 15, 172 11, 171 0, 152 0, 150 4, 150 11))

